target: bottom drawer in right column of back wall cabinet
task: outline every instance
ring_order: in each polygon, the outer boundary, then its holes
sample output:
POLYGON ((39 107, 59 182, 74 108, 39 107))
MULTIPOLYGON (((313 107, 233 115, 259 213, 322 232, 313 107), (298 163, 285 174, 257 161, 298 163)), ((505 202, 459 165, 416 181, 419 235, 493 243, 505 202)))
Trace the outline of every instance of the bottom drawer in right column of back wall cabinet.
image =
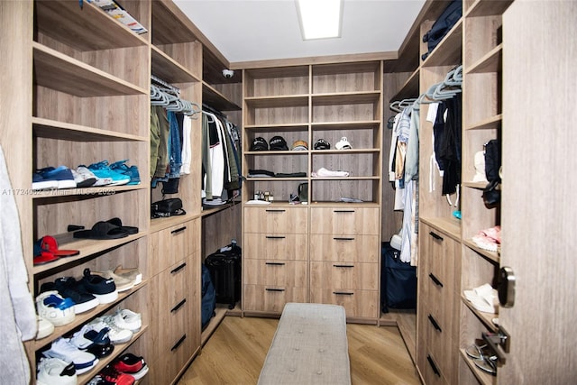
POLYGON ((347 317, 377 318, 379 291, 353 289, 311 289, 310 301, 318 304, 341 305, 347 317))

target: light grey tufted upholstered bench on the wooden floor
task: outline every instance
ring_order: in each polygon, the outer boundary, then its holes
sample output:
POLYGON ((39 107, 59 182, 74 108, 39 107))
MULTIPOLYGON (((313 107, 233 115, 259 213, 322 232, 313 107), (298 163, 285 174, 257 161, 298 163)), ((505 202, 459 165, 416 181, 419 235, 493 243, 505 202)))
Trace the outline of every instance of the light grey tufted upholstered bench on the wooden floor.
POLYGON ((344 307, 288 303, 258 385, 350 385, 344 307))

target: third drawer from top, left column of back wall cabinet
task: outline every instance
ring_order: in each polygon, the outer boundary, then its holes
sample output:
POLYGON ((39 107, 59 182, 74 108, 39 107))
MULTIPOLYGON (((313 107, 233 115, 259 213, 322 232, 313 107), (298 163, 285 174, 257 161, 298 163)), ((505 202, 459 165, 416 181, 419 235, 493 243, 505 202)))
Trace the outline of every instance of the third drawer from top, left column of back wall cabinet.
POLYGON ((244 259, 244 279, 248 285, 304 288, 308 281, 307 261, 266 261, 244 259))

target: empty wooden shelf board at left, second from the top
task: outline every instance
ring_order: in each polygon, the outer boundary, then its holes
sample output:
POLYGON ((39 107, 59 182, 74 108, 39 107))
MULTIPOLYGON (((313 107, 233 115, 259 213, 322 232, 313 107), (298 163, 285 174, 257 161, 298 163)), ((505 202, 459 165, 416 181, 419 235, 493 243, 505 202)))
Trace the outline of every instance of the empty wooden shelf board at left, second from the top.
POLYGON ((147 95, 148 91, 103 70, 91 67, 52 50, 38 42, 32 43, 34 70, 39 86, 72 96, 147 95))

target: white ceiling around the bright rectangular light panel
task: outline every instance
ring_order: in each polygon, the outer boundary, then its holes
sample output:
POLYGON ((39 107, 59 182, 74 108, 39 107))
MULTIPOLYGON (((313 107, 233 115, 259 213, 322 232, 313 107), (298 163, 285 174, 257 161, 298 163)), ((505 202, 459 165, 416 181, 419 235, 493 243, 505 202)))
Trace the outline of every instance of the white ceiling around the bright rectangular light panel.
POLYGON ((174 0, 231 63, 397 51, 425 0, 344 0, 341 37, 303 41, 294 0, 174 0))

